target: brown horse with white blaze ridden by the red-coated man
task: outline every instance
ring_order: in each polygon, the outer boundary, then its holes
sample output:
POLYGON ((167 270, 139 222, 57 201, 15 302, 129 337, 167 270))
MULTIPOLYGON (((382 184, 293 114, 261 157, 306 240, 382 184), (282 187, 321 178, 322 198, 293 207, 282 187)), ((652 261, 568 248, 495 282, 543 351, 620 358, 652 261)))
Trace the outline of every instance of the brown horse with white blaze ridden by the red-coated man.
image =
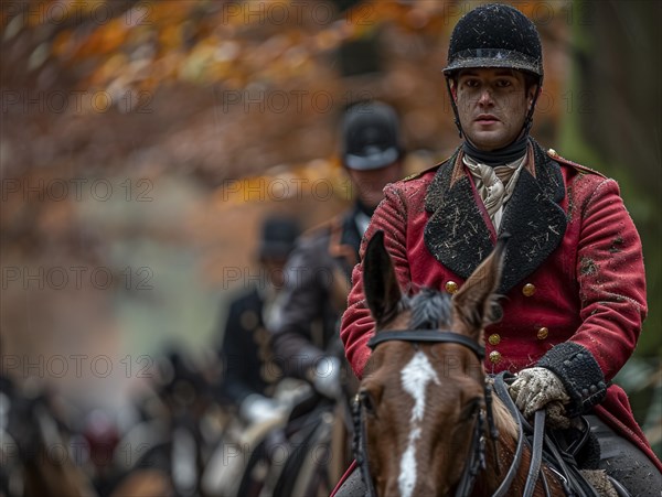
POLYGON ((377 332, 355 411, 356 460, 369 494, 565 496, 562 477, 536 457, 527 477, 532 452, 519 444, 520 426, 492 398, 482 366, 479 344, 496 305, 504 241, 452 299, 431 290, 409 298, 383 238, 371 239, 364 258, 377 332))

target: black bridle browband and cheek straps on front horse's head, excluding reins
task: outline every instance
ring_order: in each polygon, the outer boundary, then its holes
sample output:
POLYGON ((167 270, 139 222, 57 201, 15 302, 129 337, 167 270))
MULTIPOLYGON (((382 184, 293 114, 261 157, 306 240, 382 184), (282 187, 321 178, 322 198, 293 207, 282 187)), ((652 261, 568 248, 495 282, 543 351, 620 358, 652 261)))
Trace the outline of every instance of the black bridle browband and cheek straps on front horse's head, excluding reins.
MULTIPOLYGON (((482 364, 485 357, 485 349, 477 344, 471 338, 452 332, 442 332, 439 329, 394 329, 394 331, 380 331, 367 342, 367 346, 374 350, 380 344, 385 342, 409 342, 414 344, 418 343, 449 343, 462 345, 469 348, 478 358, 479 363, 482 364)), ((488 424, 490 429, 490 439, 494 444, 494 454, 498 454, 495 450, 496 441, 499 440, 499 432, 494 425, 494 417, 492 415, 492 387, 485 382, 484 387, 484 401, 488 424)), ((353 418, 354 418, 354 456, 356 464, 361 468, 361 476, 366 486, 366 495, 376 497, 373 479, 370 475, 369 462, 367 462, 367 441, 365 433, 365 397, 364 395, 356 395, 353 403, 353 418)), ((471 436, 471 449, 470 458, 460 477, 460 480, 456 488, 456 497, 467 497, 473 489, 476 477, 481 469, 485 468, 485 437, 483 434, 484 417, 483 410, 478 407, 476 409, 476 422, 473 424, 473 434, 471 436)), ((499 460, 496 461, 496 467, 499 471, 499 460)), ((509 472, 510 473, 510 472, 509 472)), ((510 486, 510 485, 509 485, 510 486)))

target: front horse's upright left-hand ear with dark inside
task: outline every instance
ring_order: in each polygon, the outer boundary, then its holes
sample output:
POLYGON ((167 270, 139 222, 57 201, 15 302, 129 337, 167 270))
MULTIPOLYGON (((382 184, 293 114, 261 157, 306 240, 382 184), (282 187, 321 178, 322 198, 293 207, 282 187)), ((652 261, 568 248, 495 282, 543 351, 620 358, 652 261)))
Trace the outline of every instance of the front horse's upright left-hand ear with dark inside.
POLYGON ((384 247, 384 231, 375 233, 367 242, 363 256, 363 291, 377 327, 395 317, 402 293, 384 247))

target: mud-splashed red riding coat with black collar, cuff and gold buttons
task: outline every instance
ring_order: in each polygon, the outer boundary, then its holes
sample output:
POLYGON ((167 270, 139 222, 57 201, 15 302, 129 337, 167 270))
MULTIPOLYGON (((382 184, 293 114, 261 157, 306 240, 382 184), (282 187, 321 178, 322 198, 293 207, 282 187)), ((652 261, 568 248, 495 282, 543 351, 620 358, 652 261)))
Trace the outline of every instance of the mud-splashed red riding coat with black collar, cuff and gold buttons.
MULTIPOLYGON (((461 152, 388 185, 367 229, 376 230, 401 287, 453 293, 492 250, 498 234, 461 152)), ((594 411, 661 468, 634 421, 624 391, 609 381, 628 360, 647 314, 641 241, 613 180, 531 140, 528 160, 506 204, 509 233, 498 292, 502 320, 485 329, 485 370, 552 369, 574 413, 594 411)), ((361 378, 374 322, 365 305, 362 264, 354 268, 341 338, 361 378)))

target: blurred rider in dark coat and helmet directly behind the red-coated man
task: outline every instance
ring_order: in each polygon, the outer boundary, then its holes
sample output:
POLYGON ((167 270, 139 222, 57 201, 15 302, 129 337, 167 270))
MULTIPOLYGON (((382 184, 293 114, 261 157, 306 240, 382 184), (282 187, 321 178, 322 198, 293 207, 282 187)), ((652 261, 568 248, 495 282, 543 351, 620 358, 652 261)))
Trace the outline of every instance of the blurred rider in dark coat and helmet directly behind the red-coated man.
POLYGON ((397 115, 386 104, 353 105, 342 118, 341 132, 341 160, 354 205, 299 238, 286 267, 285 289, 267 321, 285 375, 309 380, 330 398, 341 393, 344 355, 338 323, 359 246, 382 190, 402 179, 404 155, 397 115))

